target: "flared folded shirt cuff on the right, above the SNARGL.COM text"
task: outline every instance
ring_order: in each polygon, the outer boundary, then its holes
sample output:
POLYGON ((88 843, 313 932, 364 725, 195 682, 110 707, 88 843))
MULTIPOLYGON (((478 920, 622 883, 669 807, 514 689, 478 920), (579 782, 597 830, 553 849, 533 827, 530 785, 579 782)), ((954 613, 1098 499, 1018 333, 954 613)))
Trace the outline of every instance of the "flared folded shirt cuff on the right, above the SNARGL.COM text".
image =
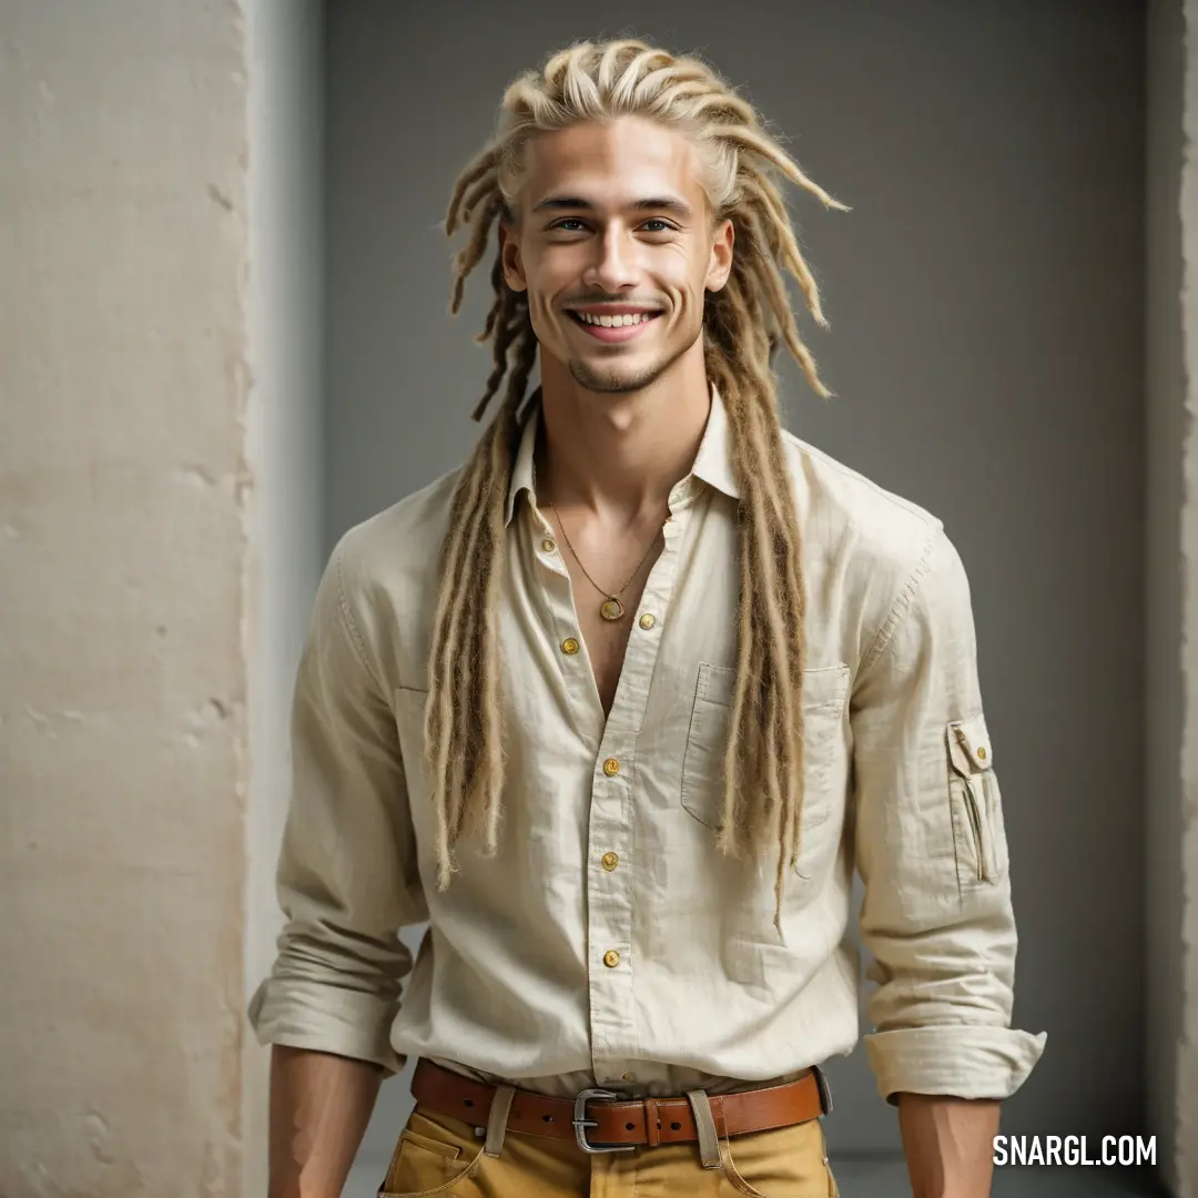
POLYGON ((898 1094, 958 1099, 1009 1099, 1043 1052, 1047 1031, 952 1024, 898 1028, 865 1036, 865 1051, 890 1106, 898 1094))

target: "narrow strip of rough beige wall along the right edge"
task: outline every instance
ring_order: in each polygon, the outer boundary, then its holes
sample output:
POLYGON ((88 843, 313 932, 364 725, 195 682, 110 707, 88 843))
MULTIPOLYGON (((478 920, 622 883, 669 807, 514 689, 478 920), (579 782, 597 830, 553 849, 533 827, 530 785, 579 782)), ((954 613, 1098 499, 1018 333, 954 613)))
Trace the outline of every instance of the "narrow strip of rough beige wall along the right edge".
POLYGON ((1150 13, 1149 1130, 1198 1198, 1198 0, 1150 13))

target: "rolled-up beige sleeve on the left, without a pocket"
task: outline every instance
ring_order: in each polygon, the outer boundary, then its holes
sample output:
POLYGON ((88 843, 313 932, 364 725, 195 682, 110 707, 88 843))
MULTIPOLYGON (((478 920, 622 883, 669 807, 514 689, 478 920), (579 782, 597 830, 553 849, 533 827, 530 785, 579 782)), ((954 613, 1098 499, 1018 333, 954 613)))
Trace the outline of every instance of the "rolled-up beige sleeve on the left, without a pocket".
POLYGON ((403 1067, 391 1025, 428 918, 394 715, 356 613, 349 536, 333 552, 296 679, 292 793, 278 864, 286 916, 249 1004, 260 1043, 403 1067))

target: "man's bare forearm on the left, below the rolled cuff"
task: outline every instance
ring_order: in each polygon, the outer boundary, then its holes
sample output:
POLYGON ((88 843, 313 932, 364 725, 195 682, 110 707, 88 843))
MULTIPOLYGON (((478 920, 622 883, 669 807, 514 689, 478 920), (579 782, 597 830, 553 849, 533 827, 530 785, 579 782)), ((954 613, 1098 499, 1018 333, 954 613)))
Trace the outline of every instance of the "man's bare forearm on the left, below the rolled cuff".
POLYGON ((369 1061, 271 1049, 268 1198, 337 1198, 370 1123, 383 1073, 369 1061))

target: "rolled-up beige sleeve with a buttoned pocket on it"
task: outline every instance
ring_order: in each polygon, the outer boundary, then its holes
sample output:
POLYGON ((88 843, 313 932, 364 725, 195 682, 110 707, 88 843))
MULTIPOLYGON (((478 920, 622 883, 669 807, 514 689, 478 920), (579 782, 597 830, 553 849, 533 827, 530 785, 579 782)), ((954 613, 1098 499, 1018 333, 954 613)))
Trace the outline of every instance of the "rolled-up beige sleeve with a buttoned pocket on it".
POLYGON ((852 703, 861 939, 878 1091, 1005 1099, 1046 1035, 1012 1029, 1016 927, 969 586, 936 527, 852 703))

